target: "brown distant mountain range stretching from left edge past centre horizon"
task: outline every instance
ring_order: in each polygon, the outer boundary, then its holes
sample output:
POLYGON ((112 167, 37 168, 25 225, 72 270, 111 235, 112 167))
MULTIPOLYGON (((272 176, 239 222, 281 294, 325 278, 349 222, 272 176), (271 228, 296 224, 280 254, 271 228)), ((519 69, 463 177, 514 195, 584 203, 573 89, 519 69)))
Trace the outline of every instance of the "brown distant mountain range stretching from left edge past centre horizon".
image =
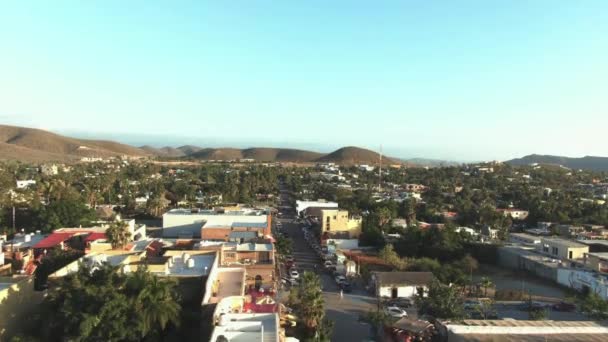
MULTIPOLYGON (((333 162, 336 164, 378 164, 378 153, 348 146, 334 152, 319 152, 287 148, 202 148, 185 145, 156 148, 149 145, 133 147, 106 140, 75 139, 40 129, 0 125, 0 159, 27 162, 76 161, 83 157, 112 156, 163 157, 197 160, 253 159, 261 162, 333 162)), ((382 158, 383 164, 401 163, 382 158)))

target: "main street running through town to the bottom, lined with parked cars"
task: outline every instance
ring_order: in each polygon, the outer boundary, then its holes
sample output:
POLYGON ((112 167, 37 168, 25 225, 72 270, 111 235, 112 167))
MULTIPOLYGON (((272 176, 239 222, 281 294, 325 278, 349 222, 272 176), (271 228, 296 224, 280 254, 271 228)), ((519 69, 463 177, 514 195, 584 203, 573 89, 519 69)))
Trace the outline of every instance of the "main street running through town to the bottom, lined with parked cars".
MULTIPOLYGON (((288 194, 281 191, 281 206, 289 203, 288 194)), ((315 271, 321 275, 323 295, 325 298, 326 317, 334 322, 332 341, 368 341, 370 326, 359 322, 359 316, 376 309, 375 298, 369 296, 360 286, 353 286, 351 293, 344 293, 340 298, 340 292, 331 274, 323 270, 321 259, 315 251, 310 248, 302 225, 295 223, 293 219, 293 208, 285 208, 286 214, 279 219, 282 230, 293 240, 293 257, 296 269, 299 272, 315 271)))

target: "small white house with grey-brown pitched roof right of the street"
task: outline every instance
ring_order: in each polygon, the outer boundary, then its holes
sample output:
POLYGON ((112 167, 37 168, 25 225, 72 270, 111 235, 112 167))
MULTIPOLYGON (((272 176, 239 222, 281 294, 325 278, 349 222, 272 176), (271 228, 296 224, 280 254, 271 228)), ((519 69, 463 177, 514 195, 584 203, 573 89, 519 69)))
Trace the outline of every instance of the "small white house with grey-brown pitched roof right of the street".
POLYGON ((374 272, 371 285, 377 297, 411 298, 418 289, 427 289, 433 278, 431 272, 374 272))

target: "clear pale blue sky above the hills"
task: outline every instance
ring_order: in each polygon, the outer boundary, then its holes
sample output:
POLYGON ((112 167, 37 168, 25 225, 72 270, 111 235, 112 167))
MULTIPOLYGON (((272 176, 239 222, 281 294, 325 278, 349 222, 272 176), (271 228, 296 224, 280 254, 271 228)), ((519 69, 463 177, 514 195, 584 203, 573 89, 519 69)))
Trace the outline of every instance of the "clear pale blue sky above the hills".
POLYGON ((608 1, 2 2, 0 122, 155 145, 608 156, 608 1))

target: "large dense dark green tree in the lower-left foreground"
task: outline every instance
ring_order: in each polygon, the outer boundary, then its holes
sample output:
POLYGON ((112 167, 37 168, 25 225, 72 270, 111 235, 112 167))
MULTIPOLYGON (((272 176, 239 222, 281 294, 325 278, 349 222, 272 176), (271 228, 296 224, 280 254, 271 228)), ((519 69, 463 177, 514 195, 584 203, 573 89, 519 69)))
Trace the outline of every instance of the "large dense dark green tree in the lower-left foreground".
POLYGON ((175 282, 145 268, 123 274, 103 265, 84 265, 60 280, 42 304, 40 329, 46 341, 140 341, 159 337, 179 322, 175 282))

